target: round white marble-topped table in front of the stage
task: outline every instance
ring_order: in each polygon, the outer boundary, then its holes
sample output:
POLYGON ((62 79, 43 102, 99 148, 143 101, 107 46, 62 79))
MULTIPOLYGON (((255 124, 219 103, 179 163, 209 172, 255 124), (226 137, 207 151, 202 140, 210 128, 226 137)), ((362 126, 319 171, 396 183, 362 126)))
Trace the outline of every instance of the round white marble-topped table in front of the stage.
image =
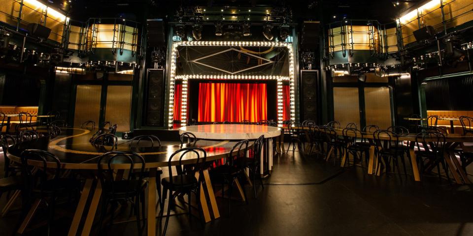
POLYGON ((198 139, 210 140, 256 140, 265 136, 266 145, 260 157, 260 174, 264 174, 264 158, 268 158, 268 170, 272 171, 272 138, 281 135, 281 128, 253 124, 203 124, 179 128, 179 134, 191 132, 198 139), (266 155, 265 155, 266 153, 266 155))

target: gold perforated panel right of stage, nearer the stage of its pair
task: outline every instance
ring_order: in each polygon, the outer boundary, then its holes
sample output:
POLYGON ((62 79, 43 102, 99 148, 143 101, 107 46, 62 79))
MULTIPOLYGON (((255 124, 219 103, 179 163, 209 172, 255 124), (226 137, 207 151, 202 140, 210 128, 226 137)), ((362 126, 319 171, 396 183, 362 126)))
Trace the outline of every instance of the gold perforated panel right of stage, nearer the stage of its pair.
POLYGON ((351 122, 360 126, 358 88, 334 88, 334 119, 341 127, 351 122))

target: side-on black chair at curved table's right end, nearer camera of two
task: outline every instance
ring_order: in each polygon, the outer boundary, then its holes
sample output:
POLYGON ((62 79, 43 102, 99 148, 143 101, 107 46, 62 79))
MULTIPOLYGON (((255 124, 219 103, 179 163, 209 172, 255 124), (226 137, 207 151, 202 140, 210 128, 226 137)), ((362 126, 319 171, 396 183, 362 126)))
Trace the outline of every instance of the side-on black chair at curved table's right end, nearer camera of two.
MULTIPOLYGON (((248 140, 241 140, 233 146, 230 151, 229 156, 227 157, 226 163, 220 166, 217 166, 210 170, 210 177, 212 183, 222 184, 222 197, 225 197, 225 184, 228 185, 228 215, 230 216, 231 210, 231 198, 232 198, 232 189, 233 185, 236 184, 238 189, 243 192, 244 199, 243 201, 248 204, 248 198, 246 197, 246 192, 244 187, 240 185, 238 178, 243 180, 245 178, 244 168, 245 168, 245 156, 246 150, 248 149, 248 140)), ((256 156, 255 156, 256 157, 256 156)), ((254 159, 256 159, 253 157, 254 159)), ((253 167, 254 168, 254 167, 253 167)), ((255 168, 256 169, 256 168, 255 168)))

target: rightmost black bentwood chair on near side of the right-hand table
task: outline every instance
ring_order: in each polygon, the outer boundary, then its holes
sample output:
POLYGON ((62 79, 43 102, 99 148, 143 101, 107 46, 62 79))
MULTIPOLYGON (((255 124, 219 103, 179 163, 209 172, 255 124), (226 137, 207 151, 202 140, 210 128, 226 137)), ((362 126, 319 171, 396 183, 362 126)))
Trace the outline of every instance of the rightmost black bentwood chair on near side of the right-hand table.
POLYGON ((441 179, 439 167, 441 164, 445 171, 445 175, 448 180, 450 180, 445 159, 443 158, 445 150, 445 135, 436 131, 424 131, 415 136, 415 143, 417 145, 417 150, 414 153, 417 162, 420 164, 421 176, 424 175, 426 170, 430 172, 437 166, 439 179, 441 179), (425 163, 425 161, 427 161, 427 163, 425 163))

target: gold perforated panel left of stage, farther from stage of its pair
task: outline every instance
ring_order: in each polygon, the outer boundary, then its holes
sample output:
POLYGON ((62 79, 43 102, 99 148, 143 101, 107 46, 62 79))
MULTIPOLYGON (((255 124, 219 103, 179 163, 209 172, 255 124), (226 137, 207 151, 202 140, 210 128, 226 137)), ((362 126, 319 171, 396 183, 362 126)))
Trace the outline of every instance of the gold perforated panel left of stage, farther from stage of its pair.
POLYGON ((100 85, 78 85, 75 98, 74 126, 78 127, 87 120, 99 122, 100 85))

